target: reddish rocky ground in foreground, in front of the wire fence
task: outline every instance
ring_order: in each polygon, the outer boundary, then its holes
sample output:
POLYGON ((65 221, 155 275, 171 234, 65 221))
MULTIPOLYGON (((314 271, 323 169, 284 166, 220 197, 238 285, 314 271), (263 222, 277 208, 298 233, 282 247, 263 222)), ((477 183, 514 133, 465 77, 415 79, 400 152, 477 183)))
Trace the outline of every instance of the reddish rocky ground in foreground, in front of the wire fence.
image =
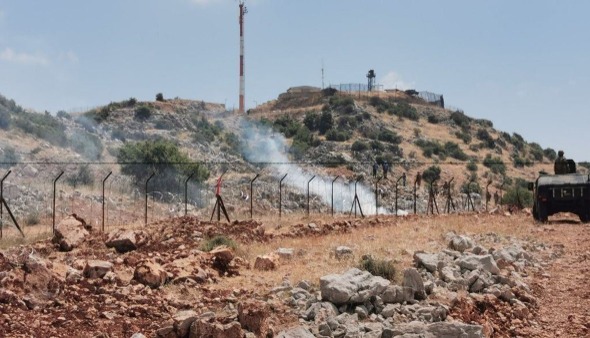
POLYGON ((0 336, 590 336, 589 227, 573 220, 500 213, 279 227, 184 217, 103 234, 70 217, 52 239, 0 251, 0 336), (428 238, 412 238, 401 258, 386 251, 395 281, 356 269, 366 252, 337 245, 390 233, 393 247, 427 223, 428 238), (238 248, 206 251, 216 235, 238 248), (323 241, 330 253, 318 258, 311 246, 323 241))

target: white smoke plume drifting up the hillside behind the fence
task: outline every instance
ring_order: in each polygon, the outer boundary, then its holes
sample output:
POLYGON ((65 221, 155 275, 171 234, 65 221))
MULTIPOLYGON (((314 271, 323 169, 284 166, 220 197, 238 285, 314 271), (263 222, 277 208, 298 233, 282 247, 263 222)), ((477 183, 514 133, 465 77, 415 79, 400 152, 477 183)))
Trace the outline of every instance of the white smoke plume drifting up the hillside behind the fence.
MULTIPOLYGON (((302 194, 307 192, 309 184, 310 195, 318 196, 323 203, 331 205, 334 177, 326 177, 304 170, 299 165, 291 162, 287 156, 289 149, 287 140, 283 135, 273 132, 269 127, 254 124, 245 119, 241 119, 240 124, 243 131, 244 147, 242 151, 248 161, 265 164, 277 179, 287 174, 284 184, 300 190, 302 194), (314 175, 312 182, 309 182, 314 175)), ((334 211, 348 213, 352 210, 354 212, 354 183, 352 178, 345 177, 334 182, 334 211)), ((360 205, 365 216, 375 215, 374 190, 359 182, 356 187, 356 194, 359 201, 359 204, 357 204, 358 214, 360 215, 360 210, 358 210, 358 205, 360 205)), ((390 211, 387 209, 379 207, 380 215, 389 213, 390 211)))

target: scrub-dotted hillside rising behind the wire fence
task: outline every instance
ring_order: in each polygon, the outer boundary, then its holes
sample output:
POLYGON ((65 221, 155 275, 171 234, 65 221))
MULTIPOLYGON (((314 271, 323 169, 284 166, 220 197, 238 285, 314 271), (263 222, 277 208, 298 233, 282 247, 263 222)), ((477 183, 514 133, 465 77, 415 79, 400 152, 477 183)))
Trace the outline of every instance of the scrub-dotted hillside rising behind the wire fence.
MULTIPOLYGON (((426 212, 428 181, 437 172, 440 179, 435 191, 442 212, 443 201, 448 200, 445 182, 451 181, 457 210, 468 208, 468 190, 477 208, 485 208, 486 188, 491 208, 494 197, 501 199, 513 187, 522 188, 541 170, 551 172, 555 158, 555 150, 527 142, 517 133, 495 130, 489 120, 445 110, 412 92, 400 91, 359 96, 295 88, 250 110, 247 116, 203 101, 137 102, 133 98, 79 114, 61 111, 53 116, 27 112, 2 98, 0 128, 0 162, 14 172, 7 179, 5 196, 12 199, 15 213, 32 221, 50 216, 48 202, 39 197, 51 195, 50 184, 62 171, 60 182, 66 185, 61 185, 60 199, 71 200, 69 208, 58 203, 64 215, 80 208, 96 212, 92 203, 88 206, 83 201, 100 201, 101 182, 113 172, 106 188, 113 195, 110 210, 118 210, 116 221, 125 222, 132 221, 129 217, 141 219, 139 211, 126 216, 120 209, 142 209, 139 195, 145 192, 151 173, 156 174, 152 189, 148 188, 153 206, 167 210, 169 216, 185 209, 183 183, 190 187, 186 208, 193 214, 208 214, 215 203, 213 187, 222 174, 224 201, 233 218, 249 217, 251 188, 256 189, 252 208, 259 215, 279 210, 306 212, 308 203, 311 213, 332 208, 349 212, 357 179, 366 214, 374 214, 375 205, 379 213, 395 213, 396 197, 398 210, 411 212, 414 184, 417 211, 426 212), (162 164, 170 161, 163 155, 147 160, 118 158, 124 146, 157 140, 172 142, 185 156, 175 161, 195 163, 198 169, 186 165, 170 169, 162 164), (135 169, 128 165, 121 170, 118 163, 126 160, 139 162, 135 169), (389 177, 377 181, 372 177, 373 165, 379 164, 380 178, 385 161, 390 166, 389 177), (161 174, 169 169, 174 174, 161 174), (184 182, 190 170, 199 175, 184 182), (421 180, 416 178, 425 171, 426 183, 418 186, 421 180), (400 180, 403 174, 405 186, 400 180), (256 175, 256 184, 251 185, 256 175), (284 187, 278 184, 283 176, 284 187), (398 196, 394 194, 396 182, 398 196), (280 188, 285 196, 278 196, 280 188), (380 192, 377 202, 375 188, 380 192), (306 190, 311 195, 309 202, 306 190), (120 194, 126 197, 115 203, 120 194), (31 202, 35 204, 32 209, 31 202), (76 207, 77 203, 81 205, 76 207), (31 210, 34 215, 29 215, 31 210)), ((526 194, 522 192, 525 198, 519 204, 526 206, 526 194)), ((510 196, 504 202, 515 203, 510 196)))

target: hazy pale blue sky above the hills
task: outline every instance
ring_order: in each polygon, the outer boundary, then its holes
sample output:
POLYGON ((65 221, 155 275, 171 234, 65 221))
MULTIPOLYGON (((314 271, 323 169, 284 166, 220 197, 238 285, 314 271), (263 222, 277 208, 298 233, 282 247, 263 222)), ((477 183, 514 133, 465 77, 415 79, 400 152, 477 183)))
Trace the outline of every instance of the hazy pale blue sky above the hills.
MULTIPOLYGON (((246 105, 366 82, 590 160, 588 1, 246 1, 246 105)), ((0 94, 39 111, 129 97, 237 106, 236 0, 0 0, 0 94)))

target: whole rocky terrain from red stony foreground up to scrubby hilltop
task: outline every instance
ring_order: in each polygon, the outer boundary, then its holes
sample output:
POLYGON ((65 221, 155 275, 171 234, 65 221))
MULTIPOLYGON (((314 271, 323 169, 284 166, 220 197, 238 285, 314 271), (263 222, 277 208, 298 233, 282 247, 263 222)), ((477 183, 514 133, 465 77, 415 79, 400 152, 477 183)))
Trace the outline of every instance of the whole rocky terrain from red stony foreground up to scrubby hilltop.
POLYGON ((580 302, 587 224, 569 214, 539 224, 526 209, 493 202, 483 211, 476 183, 485 189, 491 178, 494 192, 505 182, 512 204, 514 186, 550 170, 554 155, 539 156, 540 146, 490 121, 408 93, 312 90, 245 117, 180 99, 53 116, 2 99, 0 126, 3 197, 26 234, 4 213, 0 336, 496 338, 590 329, 580 302), (387 179, 381 169, 372 177, 375 161, 392 166, 387 179), (413 197, 417 173, 426 181, 436 167, 442 217, 424 215, 429 184, 413 197), (396 193, 402 173, 408 183, 396 193), (209 221, 219 176, 231 222, 209 221), (440 182, 451 178, 457 208, 446 215, 440 182), (465 212, 469 180, 476 212, 465 212), (414 202, 418 215, 392 215, 412 213, 414 202))

